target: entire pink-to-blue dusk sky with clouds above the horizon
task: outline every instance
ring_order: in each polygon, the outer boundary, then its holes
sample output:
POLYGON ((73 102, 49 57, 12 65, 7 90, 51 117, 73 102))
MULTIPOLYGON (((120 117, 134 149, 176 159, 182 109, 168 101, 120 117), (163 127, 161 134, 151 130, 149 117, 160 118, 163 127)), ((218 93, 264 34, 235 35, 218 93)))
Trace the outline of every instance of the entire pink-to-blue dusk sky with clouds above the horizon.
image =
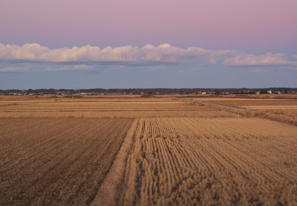
POLYGON ((1 0, 0 89, 296 88, 296 0, 1 0))

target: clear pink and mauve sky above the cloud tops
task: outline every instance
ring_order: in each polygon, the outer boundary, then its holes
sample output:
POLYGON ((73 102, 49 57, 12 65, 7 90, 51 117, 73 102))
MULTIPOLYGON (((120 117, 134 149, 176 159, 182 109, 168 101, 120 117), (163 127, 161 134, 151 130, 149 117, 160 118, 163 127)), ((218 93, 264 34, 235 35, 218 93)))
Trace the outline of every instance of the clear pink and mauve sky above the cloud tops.
MULTIPOLYGON (((297 1, 1 1, 0 43, 296 49, 297 1), (5 9, 4 9, 5 8, 5 9)), ((274 51, 271 51, 274 52, 274 51)))

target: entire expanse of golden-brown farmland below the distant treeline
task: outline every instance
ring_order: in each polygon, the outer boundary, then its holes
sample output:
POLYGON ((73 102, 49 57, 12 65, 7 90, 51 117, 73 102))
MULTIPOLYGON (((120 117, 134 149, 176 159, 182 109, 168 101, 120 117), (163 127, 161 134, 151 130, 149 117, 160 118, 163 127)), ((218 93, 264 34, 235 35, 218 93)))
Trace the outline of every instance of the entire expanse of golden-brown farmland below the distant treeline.
POLYGON ((0 204, 296 205, 297 127, 209 103, 296 107, 291 96, 0 96, 0 204))

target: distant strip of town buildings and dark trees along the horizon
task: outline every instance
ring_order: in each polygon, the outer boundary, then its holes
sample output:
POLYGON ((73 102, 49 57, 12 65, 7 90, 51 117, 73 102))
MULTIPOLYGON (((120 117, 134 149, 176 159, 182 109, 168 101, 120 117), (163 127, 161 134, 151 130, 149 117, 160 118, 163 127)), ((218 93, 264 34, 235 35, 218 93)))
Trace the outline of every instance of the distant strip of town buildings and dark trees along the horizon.
POLYGON ((0 95, 110 95, 110 94, 296 94, 297 88, 130 88, 130 89, 8 89, 0 90, 0 95))

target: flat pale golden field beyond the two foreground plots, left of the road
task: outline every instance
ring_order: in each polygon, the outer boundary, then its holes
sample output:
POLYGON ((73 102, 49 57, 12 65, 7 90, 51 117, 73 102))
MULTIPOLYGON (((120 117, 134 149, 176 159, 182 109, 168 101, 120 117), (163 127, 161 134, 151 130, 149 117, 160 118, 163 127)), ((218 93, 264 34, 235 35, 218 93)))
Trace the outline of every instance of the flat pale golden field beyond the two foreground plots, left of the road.
POLYGON ((235 114, 178 99, 0 97, 0 118, 233 117, 235 114))

